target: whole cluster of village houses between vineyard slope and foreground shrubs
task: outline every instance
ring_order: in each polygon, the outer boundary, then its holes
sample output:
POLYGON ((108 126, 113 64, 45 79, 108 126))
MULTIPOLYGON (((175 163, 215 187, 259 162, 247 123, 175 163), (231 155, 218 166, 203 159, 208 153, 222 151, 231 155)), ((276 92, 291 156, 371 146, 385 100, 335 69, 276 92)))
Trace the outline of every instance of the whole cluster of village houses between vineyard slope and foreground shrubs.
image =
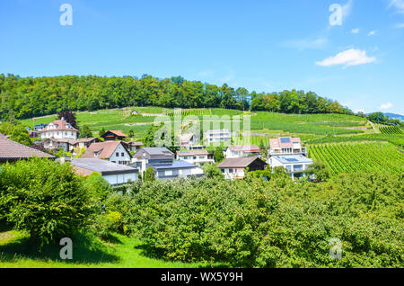
MULTIPOLYGON (((180 151, 175 154, 166 147, 145 147, 142 142, 129 140, 119 130, 107 130, 100 138, 79 139, 78 133, 79 130, 63 118, 35 125, 34 130, 30 130, 30 136, 40 139, 45 150, 53 151, 50 153, 63 150, 72 154, 57 158, 61 164, 68 161, 75 172, 83 176, 94 172, 101 174, 113 186, 136 181, 139 174, 145 174, 149 167, 153 167, 155 178, 159 180, 203 176, 202 165, 216 163, 214 151, 207 151, 206 146, 217 142, 228 145, 223 149, 224 160, 216 167, 229 180, 243 179, 246 172, 274 167, 285 168, 295 179, 305 175, 304 171, 312 165, 312 159, 307 157, 306 148, 299 138, 268 139, 268 156, 263 157, 256 145, 231 145, 230 130, 206 131, 202 145, 195 134, 182 134, 180 151), (80 156, 77 153, 81 153, 80 156)), ((56 159, 0 134, 0 164, 32 156, 56 159)))

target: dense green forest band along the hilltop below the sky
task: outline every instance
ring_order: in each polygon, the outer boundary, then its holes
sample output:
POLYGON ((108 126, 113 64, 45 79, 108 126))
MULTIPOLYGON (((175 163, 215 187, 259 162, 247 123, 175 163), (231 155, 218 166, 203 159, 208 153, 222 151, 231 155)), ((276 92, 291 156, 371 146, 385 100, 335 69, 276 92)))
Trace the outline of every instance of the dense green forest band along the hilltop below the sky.
POLYGON ((226 108, 285 113, 344 113, 338 102, 312 92, 257 94, 228 85, 188 81, 181 76, 20 77, 0 75, 0 119, 54 114, 62 110, 94 111, 126 106, 226 108))

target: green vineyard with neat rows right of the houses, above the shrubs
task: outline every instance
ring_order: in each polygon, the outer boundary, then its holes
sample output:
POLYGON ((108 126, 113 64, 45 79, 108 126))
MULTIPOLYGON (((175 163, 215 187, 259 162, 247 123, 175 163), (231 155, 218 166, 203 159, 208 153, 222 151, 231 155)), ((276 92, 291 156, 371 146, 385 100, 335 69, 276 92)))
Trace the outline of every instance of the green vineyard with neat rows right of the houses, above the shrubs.
POLYGON ((313 145, 309 147, 309 156, 329 165, 332 175, 358 171, 404 172, 404 154, 390 143, 313 145))

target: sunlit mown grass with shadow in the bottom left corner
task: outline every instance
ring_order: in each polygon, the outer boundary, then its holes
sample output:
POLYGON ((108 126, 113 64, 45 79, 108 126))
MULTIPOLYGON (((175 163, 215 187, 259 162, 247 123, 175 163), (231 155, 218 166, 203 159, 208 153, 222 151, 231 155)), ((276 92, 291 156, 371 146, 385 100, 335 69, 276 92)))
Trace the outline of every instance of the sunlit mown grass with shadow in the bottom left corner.
POLYGON ((169 262, 145 255, 135 238, 114 234, 110 241, 80 235, 73 240, 73 260, 62 260, 63 246, 31 246, 29 235, 21 231, 0 232, 0 268, 185 268, 202 264, 169 262))

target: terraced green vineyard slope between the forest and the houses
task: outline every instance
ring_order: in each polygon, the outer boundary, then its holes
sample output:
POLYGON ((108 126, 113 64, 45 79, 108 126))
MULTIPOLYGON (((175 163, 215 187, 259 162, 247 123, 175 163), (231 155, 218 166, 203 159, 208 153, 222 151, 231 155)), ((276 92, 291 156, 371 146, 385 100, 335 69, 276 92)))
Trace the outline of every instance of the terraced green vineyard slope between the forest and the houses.
MULTIPOLYGON (((242 112, 225 109, 183 109, 175 110, 176 115, 182 118, 188 115, 197 116, 200 120, 204 116, 213 116, 211 121, 220 123, 215 128, 229 128, 224 121, 230 123, 233 116, 239 116, 240 129, 244 129, 243 116, 250 115, 251 144, 257 144, 264 139, 277 136, 296 136, 303 141, 322 139, 329 136, 351 137, 354 135, 371 134, 373 130, 366 120, 356 116, 342 114, 282 114, 274 112, 242 112), (262 135, 262 136, 258 136, 262 135)), ((161 107, 130 107, 124 109, 100 110, 96 112, 77 112, 79 126, 88 125, 94 136, 103 128, 105 130, 122 130, 127 133, 133 130, 134 139, 143 139, 150 125, 157 115, 174 116, 174 110, 161 107), (140 112, 140 115, 131 115, 132 112, 140 112)), ((35 119, 22 120, 25 126, 30 128, 34 124, 49 123, 56 119, 56 115, 50 115, 35 119)), ((230 126, 234 130, 234 126, 230 126)), ((242 141, 239 143, 243 143, 242 141)), ((244 142, 247 144, 247 142, 244 142)), ((266 144, 268 145, 268 143, 266 144)))

